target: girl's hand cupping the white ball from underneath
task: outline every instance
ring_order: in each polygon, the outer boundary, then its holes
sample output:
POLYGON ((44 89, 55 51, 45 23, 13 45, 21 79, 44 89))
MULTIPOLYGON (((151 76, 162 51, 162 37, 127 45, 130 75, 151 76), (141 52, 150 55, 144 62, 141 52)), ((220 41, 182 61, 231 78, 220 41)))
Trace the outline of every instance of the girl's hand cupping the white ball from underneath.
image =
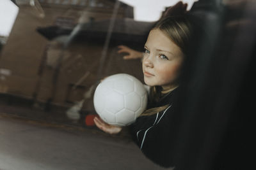
POLYGON ((109 125, 106 124, 106 122, 104 122, 101 118, 99 117, 95 117, 93 119, 95 125, 97 125, 97 127, 99 127, 99 129, 101 129, 104 132, 107 132, 109 134, 118 134, 118 132, 120 132, 122 130, 122 127, 117 127, 115 125, 109 125))

